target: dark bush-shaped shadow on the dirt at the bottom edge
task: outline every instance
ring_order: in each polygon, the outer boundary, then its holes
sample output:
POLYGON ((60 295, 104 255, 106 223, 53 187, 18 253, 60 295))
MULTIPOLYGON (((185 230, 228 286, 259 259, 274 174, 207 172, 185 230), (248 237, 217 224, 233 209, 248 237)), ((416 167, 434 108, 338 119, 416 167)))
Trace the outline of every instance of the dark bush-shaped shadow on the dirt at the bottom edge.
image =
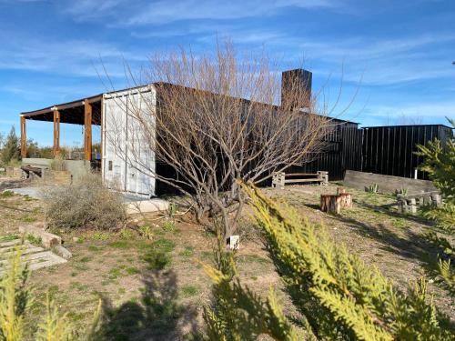
POLYGON ((179 340, 197 335, 197 310, 178 303, 177 276, 172 270, 148 270, 136 300, 113 306, 102 299, 99 340, 179 340))

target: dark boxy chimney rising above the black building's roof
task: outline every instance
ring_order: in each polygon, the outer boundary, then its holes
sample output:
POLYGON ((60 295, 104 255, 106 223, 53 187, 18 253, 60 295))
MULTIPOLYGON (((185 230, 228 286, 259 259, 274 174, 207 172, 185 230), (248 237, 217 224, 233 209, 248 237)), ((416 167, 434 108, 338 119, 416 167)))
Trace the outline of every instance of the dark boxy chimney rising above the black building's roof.
POLYGON ((281 73, 281 105, 305 109, 311 103, 313 74, 305 69, 294 69, 281 73), (291 98, 292 97, 292 98, 291 98))

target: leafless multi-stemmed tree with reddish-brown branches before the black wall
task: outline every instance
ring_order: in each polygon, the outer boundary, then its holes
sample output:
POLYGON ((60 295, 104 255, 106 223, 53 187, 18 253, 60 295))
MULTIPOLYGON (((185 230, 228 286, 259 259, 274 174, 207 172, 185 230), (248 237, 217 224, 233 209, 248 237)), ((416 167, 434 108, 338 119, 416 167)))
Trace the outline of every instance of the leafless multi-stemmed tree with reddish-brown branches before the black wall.
MULTIPOLYGON (((146 141, 175 175, 157 174, 144 162, 139 168, 186 193, 198 219, 218 218, 226 237, 245 204, 238 181, 260 184, 273 172, 308 162, 331 130, 297 79, 287 80, 281 94, 276 69, 266 55, 238 58, 228 43, 215 56, 186 50, 157 55, 141 75, 157 96, 144 96, 146 108, 128 110, 136 140, 146 141)), ((144 145, 130 148, 129 157, 140 163, 144 145)))

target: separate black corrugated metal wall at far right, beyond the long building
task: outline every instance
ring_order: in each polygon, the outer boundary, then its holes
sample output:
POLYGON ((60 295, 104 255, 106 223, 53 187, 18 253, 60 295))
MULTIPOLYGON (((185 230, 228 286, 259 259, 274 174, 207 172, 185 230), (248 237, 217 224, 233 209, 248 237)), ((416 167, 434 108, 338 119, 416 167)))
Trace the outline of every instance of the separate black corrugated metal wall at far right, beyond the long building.
MULTIPOLYGON (((444 125, 393 125, 363 128, 363 172, 387 176, 414 177, 414 170, 423 162, 415 154, 417 145, 428 145, 438 138, 443 144, 452 135, 444 125)), ((428 180, 428 175, 418 172, 418 178, 428 180)))

